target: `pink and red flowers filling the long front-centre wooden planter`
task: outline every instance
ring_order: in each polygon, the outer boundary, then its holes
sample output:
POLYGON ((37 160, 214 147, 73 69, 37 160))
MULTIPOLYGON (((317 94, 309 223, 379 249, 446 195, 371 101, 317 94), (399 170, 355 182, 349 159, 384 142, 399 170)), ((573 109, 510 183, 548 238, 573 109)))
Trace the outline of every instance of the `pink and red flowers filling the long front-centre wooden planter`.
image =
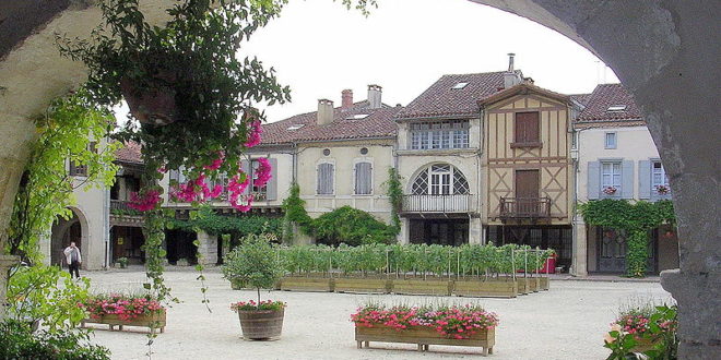
POLYGON ((498 316, 495 313, 473 304, 391 308, 367 304, 358 308, 357 312, 351 315, 351 321, 359 327, 387 326, 397 331, 424 326, 456 339, 466 339, 480 331, 498 325, 498 316))

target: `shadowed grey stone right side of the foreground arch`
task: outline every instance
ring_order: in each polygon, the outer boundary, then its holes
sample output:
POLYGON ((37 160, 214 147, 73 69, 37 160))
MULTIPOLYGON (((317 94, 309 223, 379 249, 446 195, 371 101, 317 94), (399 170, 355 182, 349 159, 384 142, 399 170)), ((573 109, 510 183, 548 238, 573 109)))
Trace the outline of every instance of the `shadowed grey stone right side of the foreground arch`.
POLYGON ((598 55, 646 116, 671 185, 681 269, 662 274, 679 308, 681 359, 721 351, 719 1, 471 0, 533 20, 598 55))

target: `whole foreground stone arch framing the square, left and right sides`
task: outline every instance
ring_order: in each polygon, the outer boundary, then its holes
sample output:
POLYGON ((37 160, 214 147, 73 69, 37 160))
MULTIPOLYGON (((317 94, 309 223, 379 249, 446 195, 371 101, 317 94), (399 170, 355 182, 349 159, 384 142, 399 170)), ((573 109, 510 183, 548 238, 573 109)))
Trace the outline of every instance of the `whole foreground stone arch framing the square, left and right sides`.
MULTIPOLYGON (((662 283, 679 303, 679 357, 700 359, 718 353, 721 346, 721 323, 717 321, 721 312, 718 117, 721 111, 714 97, 721 79, 718 67, 721 47, 717 40, 717 34, 721 33, 718 21, 721 2, 471 1, 519 14, 568 36, 602 58, 633 92, 675 192, 681 271, 663 274, 662 283)), ((169 4, 167 0, 141 2, 169 4)), ((0 145, 0 168, 5 169, 0 171, 0 231, 9 221, 20 173, 33 141, 32 123, 26 119, 38 113, 52 96, 84 77, 81 65, 48 52, 54 49, 51 34, 81 28, 86 34, 93 27, 86 24, 98 20, 96 11, 68 9, 69 1, 50 3, 51 8, 46 7, 50 10, 42 16, 44 21, 23 16, 22 11, 10 8, 12 21, 0 23, 0 41, 9 43, 0 52, 0 83, 7 88, 3 88, 7 94, 0 94, 4 96, 0 104, 12 105, 8 110, 0 108, 4 119, 0 131, 10 139, 0 145), (63 12, 67 16, 60 15, 63 12), (25 23, 31 25, 20 26, 25 23), (35 32, 45 25, 48 26, 35 32), (11 26, 23 29, 19 38, 7 36, 16 34, 4 31, 11 26), (13 49, 23 41, 23 46, 13 49), (20 68, 17 63, 13 65, 27 55, 34 55, 35 60, 20 68), (9 62, 11 65, 5 65, 9 62), (35 87, 36 84, 42 87, 35 87)), ((162 17, 164 8, 155 7, 153 17, 162 17)), ((32 13, 32 8, 27 9, 32 13)))

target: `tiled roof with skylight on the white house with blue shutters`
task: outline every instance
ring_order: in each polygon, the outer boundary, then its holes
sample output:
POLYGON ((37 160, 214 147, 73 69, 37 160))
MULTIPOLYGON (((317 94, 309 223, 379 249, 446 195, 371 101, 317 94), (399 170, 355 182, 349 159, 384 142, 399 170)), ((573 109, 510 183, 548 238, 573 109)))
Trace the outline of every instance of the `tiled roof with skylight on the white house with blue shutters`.
MULTIPOLYGON (((577 125, 643 122, 643 116, 634 97, 620 84, 598 85, 587 100, 586 108, 576 120, 577 125), (626 106, 623 111, 608 111, 611 106, 626 106)), ((631 125, 631 124, 627 124, 631 125)))

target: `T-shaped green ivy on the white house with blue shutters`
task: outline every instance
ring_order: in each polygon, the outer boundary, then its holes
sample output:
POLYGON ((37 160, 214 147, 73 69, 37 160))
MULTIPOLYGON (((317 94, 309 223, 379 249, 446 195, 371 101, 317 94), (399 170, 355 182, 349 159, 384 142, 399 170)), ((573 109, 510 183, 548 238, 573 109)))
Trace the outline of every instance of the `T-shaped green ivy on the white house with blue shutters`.
POLYGON ((673 203, 604 199, 579 205, 583 220, 593 226, 625 230, 626 275, 643 277, 648 259, 650 230, 663 224, 675 225, 673 203))

